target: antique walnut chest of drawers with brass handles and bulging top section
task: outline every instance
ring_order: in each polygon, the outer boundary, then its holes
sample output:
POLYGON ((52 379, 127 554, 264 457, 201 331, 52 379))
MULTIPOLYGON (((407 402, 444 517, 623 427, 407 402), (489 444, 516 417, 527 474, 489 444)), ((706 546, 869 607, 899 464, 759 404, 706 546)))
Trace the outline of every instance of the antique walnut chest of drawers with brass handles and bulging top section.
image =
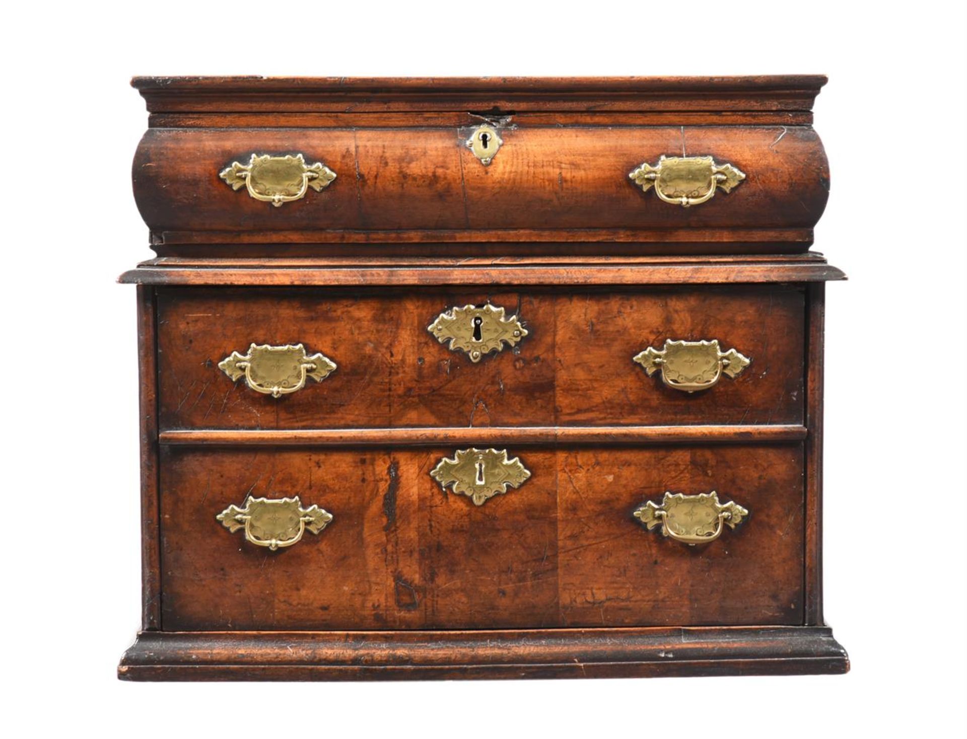
POLYGON ((136 78, 119 675, 845 671, 824 82, 136 78))

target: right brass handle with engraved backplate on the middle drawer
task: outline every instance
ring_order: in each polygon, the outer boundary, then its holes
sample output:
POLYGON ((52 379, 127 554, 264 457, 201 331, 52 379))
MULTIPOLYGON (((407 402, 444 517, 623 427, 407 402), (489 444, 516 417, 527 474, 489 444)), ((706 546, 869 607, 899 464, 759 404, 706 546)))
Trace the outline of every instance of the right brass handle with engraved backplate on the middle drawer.
POLYGON ((676 390, 694 392, 718 383, 723 375, 735 378, 751 359, 734 349, 722 352, 718 339, 712 341, 672 341, 665 339, 662 349, 648 347, 633 360, 651 377, 661 369, 661 381, 676 390))

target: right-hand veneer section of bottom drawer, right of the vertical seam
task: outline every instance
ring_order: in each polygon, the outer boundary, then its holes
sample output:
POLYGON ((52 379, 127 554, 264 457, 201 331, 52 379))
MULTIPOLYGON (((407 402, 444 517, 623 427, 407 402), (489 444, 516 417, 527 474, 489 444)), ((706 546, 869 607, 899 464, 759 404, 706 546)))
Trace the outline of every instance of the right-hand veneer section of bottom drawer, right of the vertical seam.
POLYGON ((802 624, 802 462, 800 444, 561 452, 562 625, 802 624), (665 491, 713 490, 749 516, 707 545, 631 516, 665 491))

